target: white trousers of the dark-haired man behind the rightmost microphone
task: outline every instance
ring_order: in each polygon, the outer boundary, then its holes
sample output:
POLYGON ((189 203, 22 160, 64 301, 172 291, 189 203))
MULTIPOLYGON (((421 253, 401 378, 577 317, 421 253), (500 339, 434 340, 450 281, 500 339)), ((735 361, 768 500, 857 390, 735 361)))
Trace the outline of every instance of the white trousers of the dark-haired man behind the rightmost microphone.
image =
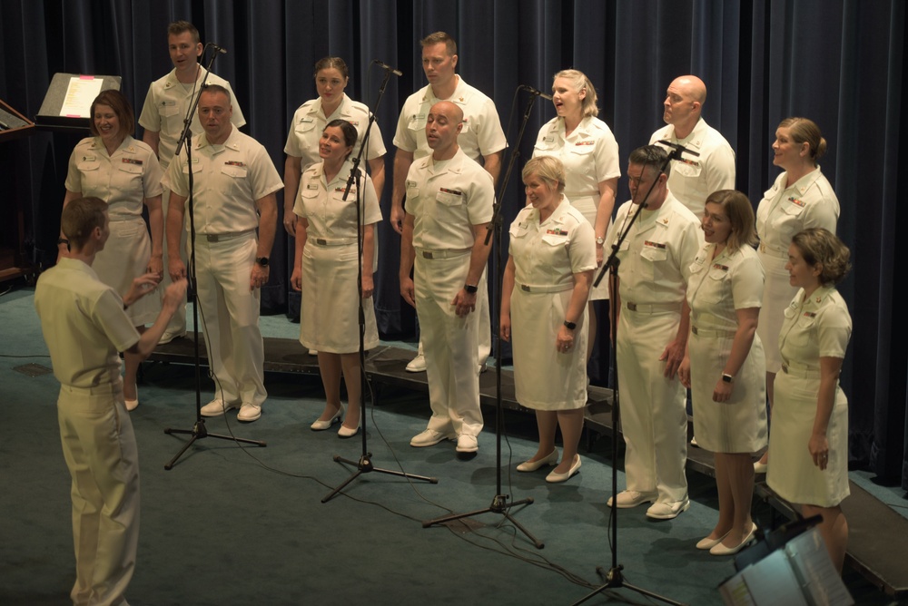
POLYGON ((627 490, 658 492, 660 503, 687 496, 686 391, 677 376, 663 376, 659 357, 677 334, 680 314, 643 313, 622 306, 617 367, 621 431, 627 452, 627 490))

